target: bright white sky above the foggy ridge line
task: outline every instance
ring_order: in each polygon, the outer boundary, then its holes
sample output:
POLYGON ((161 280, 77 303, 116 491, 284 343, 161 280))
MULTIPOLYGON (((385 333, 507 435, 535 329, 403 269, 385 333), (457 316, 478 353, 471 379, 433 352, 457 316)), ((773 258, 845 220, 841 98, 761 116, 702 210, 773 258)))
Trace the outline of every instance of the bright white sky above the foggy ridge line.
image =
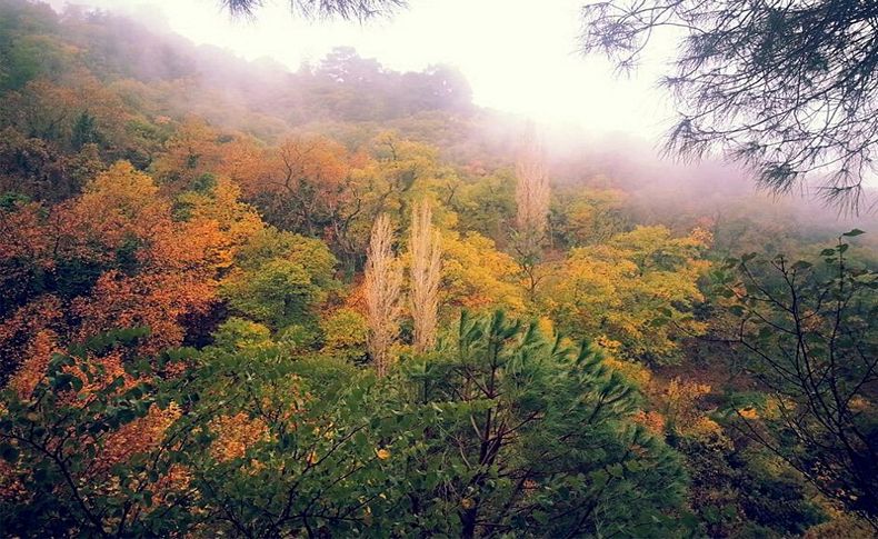
MULTIPOLYGON (((256 19, 232 20, 218 0, 72 0, 100 8, 163 17, 196 43, 247 59, 269 57, 298 68, 337 46, 355 47, 397 70, 430 63, 457 66, 478 104, 572 124, 591 133, 622 131, 655 139, 670 116, 655 89, 660 61, 616 78, 601 58, 576 51, 579 9, 587 0, 410 0, 391 19, 306 22, 287 0, 267 0, 256 19)), ((68 0, 51 0, 62 7, 68 0)), ((571 127, 572 127, 571 126, 571 127)))

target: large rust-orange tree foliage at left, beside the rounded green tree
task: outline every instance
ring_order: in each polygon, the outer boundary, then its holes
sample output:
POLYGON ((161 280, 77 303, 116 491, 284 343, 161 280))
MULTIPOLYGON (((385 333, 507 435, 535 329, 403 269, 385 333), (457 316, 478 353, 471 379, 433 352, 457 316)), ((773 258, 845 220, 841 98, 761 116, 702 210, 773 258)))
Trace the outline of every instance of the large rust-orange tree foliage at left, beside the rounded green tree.
POLYGON ((0 351, 23 358, 32 379, 39 360, 30 359, 30 341, 46 330, 64 341, 147 326, 152 332, 140 352, 179 346, 183 317, 211 306, 220 273, 262 227, 238 196, 233 184, 220 181, 212 193, 184 200, 190 211, 179 219, 152 178, 122 161, 68 202, 0 212, 2 267, 23 267, 22 277, 39 269, 50 282, 64 282, 58 275, 63 264, 72 263, 74 272, 100 269, 90 289, 72 296, 49 290, 0 320, 0 351))

